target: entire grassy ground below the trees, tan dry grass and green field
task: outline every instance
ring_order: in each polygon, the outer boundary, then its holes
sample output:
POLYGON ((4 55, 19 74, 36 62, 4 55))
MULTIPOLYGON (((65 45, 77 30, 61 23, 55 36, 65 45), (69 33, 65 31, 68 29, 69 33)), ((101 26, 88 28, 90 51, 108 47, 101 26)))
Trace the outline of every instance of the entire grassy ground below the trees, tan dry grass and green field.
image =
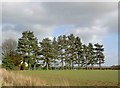
POLYGON ((0 69, 3 86, 117 86, 118 70, 36 70, 0 69))

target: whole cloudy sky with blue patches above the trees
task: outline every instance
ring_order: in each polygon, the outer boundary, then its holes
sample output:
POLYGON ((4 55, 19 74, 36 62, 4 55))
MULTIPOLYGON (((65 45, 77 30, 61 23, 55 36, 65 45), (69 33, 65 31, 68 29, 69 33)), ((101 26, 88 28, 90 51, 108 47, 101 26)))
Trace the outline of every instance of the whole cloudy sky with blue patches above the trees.
POLYGON ((105 64, 118 64, 117 2, 3 2, 2 39, 17 40, 26 30, 41 41, 73 33, 83 43, 100 43, 105 64))

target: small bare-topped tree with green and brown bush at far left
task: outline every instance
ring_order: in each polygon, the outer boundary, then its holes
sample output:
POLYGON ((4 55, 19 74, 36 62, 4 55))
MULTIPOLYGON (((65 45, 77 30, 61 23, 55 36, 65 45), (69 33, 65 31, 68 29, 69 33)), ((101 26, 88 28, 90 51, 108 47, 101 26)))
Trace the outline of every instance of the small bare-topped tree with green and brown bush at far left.
POLYGON ((7 39, 2 43, 2 67, 6 69, 19 69, 21 56, 16 52, 17 42, 7 39))

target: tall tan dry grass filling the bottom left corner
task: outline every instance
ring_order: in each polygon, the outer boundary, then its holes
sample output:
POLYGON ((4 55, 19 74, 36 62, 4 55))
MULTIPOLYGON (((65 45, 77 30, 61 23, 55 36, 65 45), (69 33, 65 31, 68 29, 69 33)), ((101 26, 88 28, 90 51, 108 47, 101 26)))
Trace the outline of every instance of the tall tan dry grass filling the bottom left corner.
POLYGON ((0 70, 2 86, 47 86, 43 80, 37 77, 24 76, 19 72, 0 70))

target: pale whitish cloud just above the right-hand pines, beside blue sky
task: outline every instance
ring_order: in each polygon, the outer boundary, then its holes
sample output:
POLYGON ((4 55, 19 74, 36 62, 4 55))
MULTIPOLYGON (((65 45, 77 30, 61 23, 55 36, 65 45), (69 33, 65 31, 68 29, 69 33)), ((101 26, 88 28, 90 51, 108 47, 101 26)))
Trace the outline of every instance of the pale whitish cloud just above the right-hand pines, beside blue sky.
POLYGON ((82 42, 87 44, 92 43, 101 43, 102 37, 108 33, 108 28, 92 26, 92 27, 77 27, 71 29, 68 33, 73 33, 76 36, 79 36, 82 39, 82 42))

